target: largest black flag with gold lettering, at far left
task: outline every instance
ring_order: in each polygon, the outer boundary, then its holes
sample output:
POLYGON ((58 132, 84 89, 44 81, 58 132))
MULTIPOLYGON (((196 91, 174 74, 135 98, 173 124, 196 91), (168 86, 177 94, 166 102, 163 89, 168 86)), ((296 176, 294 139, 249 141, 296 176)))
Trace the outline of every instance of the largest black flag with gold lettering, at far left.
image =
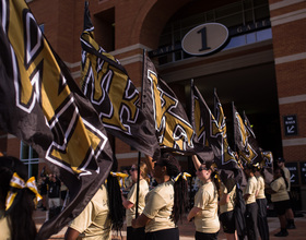
POLYGON ((1 0, 0 128, 31 145, 69 188, 66 208, 47 220, 48 239, 78 216, 113 165, 104 127, 24 0, 1 0))

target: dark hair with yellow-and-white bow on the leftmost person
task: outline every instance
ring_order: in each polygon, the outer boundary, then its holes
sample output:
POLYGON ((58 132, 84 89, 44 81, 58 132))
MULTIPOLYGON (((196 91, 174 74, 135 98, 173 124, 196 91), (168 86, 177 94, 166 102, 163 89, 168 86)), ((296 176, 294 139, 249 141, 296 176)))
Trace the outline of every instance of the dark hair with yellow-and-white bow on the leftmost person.
MULTIPOLYGON (((5 208, 5 197, 10 190, 10 181, 13 173, 16 172, 24 181, 27 178, 27 169, 25 165, 15 157, 0 157, 0 204, 1 208, 5 208)), ((8 221, 11 230, 12 240, 34 240, 37 230, 33 219, 35 205, 33 202, 34 194, 28 189, 19 190, 20 194, 10 212, 8 213, 8 221)))

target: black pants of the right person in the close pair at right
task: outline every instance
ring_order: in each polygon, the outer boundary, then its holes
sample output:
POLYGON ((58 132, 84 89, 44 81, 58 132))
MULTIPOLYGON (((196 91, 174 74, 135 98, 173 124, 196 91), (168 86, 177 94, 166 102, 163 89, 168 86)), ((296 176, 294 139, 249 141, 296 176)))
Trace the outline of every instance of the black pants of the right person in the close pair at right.
POLYGON ((267 199, 256 200, 258 205, 257 225, 261 240, 269 240, 269 225, 267 219, 267 199))

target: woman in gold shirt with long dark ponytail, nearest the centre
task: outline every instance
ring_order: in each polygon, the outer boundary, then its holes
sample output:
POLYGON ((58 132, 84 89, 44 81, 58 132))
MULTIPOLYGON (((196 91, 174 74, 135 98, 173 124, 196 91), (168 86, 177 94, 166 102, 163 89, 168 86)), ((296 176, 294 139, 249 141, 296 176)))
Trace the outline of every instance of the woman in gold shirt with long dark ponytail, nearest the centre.
POLYGON ((186 175, 174 156, 164 154, 154 164, 153 177, 158 184, 146 194, 144 209, 132 227, 145 227, 145 240, 178 240, 176 223, 188 206, 186 175))

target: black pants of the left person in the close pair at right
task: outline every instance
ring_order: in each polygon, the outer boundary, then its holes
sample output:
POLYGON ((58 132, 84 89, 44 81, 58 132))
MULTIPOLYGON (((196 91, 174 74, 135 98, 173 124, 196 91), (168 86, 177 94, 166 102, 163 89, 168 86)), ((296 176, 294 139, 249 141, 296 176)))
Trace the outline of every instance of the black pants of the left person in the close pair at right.
POLYGON ((257 203, 246 204, 246 225, 247 225, 247 236, 248 240, 257 240, 257 203))

